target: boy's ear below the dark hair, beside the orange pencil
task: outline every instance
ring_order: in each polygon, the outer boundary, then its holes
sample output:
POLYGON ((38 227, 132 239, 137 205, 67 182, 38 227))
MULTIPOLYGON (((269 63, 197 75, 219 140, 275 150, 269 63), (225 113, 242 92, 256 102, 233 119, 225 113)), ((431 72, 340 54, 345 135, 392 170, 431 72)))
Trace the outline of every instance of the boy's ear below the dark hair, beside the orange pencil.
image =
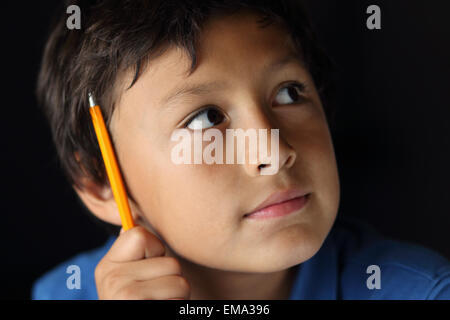
POLYGON ((91 179, 83 178, 82 189, 73 188, 81 201, 97 218, 114 225, 121 225, 119 209, 109 185, 100 186, 91 179))

